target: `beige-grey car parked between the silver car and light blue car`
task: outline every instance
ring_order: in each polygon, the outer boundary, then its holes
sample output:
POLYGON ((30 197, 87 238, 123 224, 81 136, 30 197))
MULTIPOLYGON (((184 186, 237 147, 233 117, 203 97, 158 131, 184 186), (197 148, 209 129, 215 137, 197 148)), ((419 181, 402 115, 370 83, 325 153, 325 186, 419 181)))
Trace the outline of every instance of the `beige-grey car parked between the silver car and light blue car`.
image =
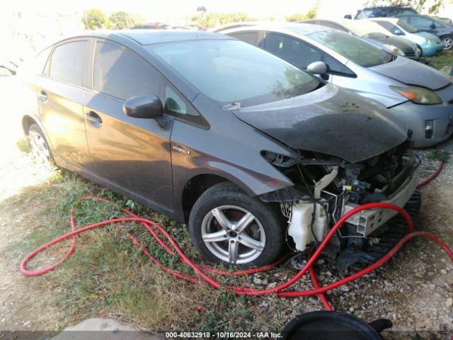
POLYGON ((300 21, 300 23, 311 23, 341 30, 342 32, 367 40, 367 42, 374 46, 382 48, 382 50, 386 50, 387 52, 391 52, 394 55, 401 55, 413 60, 418 60, 421 55, 421 50, 418 49, 415 43, 404 38, 391 36, 391 34, 384 30, 382 26, 379 26, 372 21, 309 19, 300 21))

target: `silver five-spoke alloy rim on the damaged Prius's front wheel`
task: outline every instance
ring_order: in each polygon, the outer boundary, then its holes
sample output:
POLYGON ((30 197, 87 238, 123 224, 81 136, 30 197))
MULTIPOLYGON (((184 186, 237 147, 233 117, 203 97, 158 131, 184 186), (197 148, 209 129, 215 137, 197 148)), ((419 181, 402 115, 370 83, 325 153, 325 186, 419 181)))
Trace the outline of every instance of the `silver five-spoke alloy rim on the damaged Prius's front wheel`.
POLYGON ((260 221, 248 210, 222 205, 207 213, 201 225, 207 249, 225 262, 249 263, 264 251, 265 232, 260 221))

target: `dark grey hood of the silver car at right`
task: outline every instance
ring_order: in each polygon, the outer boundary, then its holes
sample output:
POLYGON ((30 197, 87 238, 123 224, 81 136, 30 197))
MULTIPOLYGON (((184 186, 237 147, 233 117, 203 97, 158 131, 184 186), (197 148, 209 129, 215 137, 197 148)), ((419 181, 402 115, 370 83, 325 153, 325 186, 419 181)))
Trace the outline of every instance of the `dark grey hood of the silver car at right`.
POLYGON ((452 84, 452 81, 432 67, 408 58, 396 57, 393 62, 370 67, 374 72, 401 81, 407 85, 423 86, 437 90, 452 84))

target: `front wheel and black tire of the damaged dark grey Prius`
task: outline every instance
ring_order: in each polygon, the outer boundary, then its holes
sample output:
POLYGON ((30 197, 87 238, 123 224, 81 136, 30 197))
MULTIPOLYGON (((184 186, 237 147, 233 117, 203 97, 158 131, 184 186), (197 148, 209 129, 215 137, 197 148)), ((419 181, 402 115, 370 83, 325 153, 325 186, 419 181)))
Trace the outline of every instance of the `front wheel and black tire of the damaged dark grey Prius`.
POLYGON ((189 230, 200 254, 214 263, 265 266, 285 249, 285 221, 272 205, 233 183, 219 183, 198 198, 189 230))

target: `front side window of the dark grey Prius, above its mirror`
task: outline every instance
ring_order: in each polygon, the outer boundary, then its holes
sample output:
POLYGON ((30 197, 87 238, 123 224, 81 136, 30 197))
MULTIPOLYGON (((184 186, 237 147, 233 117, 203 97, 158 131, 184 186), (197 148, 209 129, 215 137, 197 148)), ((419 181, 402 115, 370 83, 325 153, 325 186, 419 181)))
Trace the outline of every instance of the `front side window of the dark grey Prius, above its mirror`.
POLYGON ((98 40, 93 62, 93 90, 125 100, 159 94, 161 76, 148 62, 120 44, 98 40))

